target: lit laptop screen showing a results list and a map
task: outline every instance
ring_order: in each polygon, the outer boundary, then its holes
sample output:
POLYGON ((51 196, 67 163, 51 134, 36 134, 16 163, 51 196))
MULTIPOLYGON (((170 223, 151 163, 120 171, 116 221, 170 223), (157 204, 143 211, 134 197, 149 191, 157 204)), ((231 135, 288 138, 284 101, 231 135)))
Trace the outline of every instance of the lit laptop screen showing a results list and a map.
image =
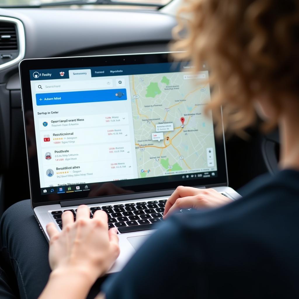
POLYGON ((217 176, 209 72, 184 68, 31 70, 41 194, 217 176))

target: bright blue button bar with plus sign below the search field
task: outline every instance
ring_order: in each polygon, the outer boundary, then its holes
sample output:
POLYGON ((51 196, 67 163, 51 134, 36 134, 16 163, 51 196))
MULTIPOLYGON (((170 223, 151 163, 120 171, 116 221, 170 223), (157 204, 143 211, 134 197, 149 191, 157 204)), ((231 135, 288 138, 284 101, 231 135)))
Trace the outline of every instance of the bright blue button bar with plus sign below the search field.
POLYGON ((102 89, 36 94, 36 105, 59 105, 93 102, 122 101, 127 99, 126 89, 102 89))

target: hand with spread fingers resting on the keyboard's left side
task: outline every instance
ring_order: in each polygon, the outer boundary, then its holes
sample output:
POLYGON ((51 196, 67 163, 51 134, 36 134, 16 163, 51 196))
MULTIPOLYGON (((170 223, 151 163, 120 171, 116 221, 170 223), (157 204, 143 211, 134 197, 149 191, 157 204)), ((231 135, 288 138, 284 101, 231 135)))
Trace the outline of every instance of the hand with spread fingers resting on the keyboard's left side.
POLYGON ((81 205, 74 222, 73 213, 66 211, 62 214, 62 231, 51 222, 47 232, 52 273, 78 273, 88 277, 92 285, 111 268, 119 255, 119 246, 117 230, 108 231, 107 214, 97 210, 93 219, 89 214, 89 208, 81 205))

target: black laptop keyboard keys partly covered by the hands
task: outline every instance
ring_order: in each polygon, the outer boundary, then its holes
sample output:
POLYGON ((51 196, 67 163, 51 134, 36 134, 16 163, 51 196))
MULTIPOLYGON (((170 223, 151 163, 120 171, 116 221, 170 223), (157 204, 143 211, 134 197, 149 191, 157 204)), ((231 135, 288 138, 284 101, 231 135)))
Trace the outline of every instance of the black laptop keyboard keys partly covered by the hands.
MULTIPOLYGON (((164 207, 167 199, 150 200, 144 202, 124 203, 118 205, 104 205, 90 207, 90 218, 97 210, 103 210, 108 215, 109 228, 116 227, 120 233, 145 231, 155 229, 163 221, 164 207)), ((62 213, 71 211, 76 220, 77 209, 51 211, 55 221, 62 229, 62 213)), ((181 210, 182 213, 190 210, 181 210)))

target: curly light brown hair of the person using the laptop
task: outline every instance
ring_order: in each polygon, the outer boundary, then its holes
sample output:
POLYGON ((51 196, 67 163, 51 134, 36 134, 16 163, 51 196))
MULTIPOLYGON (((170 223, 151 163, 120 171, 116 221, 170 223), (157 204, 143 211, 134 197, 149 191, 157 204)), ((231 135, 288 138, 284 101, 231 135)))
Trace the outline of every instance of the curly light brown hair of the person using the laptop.
POLYGON ((219 86, 207 106, 218 132, 220 106, 225 129, 241 132, 256 119, 254 101, 267 95, 276 111, 270 128, 282 95, 299 94, 298 0, 184 0, 173 33, 172 49, 186 51, 175 57, 190 59, 195 71, 207 63, 210 84, 219 86))

